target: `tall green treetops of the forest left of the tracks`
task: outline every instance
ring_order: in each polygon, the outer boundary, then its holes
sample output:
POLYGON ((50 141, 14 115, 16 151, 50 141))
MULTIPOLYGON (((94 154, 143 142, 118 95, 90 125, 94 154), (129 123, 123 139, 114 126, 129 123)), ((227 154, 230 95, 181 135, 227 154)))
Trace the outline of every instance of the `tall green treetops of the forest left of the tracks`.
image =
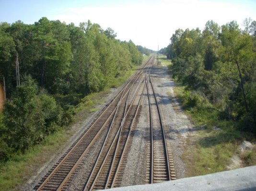
POLYGON ((83 95, 108 87, 142 55, 132 42, 115 39, 91 21, 77 27, 41 18, 33 25, 22 21, 0 25, 0 74, 6 78, 7 96, 15 89, 15 53, 20 74, 30 74, 51 94, 83 95))

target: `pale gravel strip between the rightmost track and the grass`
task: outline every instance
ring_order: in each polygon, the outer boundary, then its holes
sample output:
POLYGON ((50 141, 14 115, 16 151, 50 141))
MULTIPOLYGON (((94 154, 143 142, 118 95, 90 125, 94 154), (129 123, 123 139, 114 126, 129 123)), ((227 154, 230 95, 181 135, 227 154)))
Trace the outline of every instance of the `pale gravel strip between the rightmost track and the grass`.
POLYGON ((186 176, 186 165, 181 159, 183 146, 193 125, 175 98, 175 82, 171 79, 166 66, 155 66, 152 73, 153 85, 158 96, 162 117, 168 131, 166 136, 171 142, 176 178, 186 176))

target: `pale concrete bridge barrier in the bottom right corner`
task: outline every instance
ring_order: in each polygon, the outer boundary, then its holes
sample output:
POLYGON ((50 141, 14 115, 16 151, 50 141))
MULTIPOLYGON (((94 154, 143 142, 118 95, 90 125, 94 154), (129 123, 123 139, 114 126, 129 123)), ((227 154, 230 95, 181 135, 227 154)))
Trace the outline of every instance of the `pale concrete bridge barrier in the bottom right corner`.
POLYGON ((107 191, 256 191, 256 166, 107 191))

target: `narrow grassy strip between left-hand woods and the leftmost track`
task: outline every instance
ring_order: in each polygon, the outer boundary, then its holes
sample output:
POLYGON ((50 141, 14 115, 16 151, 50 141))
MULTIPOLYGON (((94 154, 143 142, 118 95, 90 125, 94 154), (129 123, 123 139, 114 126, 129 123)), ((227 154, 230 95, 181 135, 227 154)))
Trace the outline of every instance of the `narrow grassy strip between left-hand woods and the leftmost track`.
MULTIPOLYGON (((144 56, 143 63, 148 58, 149 56, 144 56)), ((118 76, 111 87, 122 85, 139 67, 134 66, 126 74, 118 76)), ((83 97, 80 103, 73 108, 75 113, 73 123, 58 128, 39 144, 26 149, 24 152, 16 152, 8 161, 0 163, 0 191, 23 190, 26 182, 37 175, 38 170, 52 158, 52 155, 61 151, 63 143, 76 133, 82 121, 100 109, 98 105, 105 101, 108 93, 109 89, 106 88, 103 91, 83 97)))

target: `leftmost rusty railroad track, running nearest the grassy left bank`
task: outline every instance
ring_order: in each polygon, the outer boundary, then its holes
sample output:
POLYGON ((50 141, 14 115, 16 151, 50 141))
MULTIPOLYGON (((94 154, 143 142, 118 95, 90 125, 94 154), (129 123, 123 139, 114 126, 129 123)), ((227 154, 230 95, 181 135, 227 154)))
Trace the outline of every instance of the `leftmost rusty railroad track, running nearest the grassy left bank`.
MULTIPOLYGON (((128 118, 134 117, 128 115, 128 97, 131 88, 141 78, 141 73, 152 63, 154 57, 145 64, 127 85, 120 91, 120 93, 113 99, 113 101, 105 108, 101 115, 93 122, 93 124, 86 130, 80 138, 78 138, 67 150, 67 152, 58 160, 47 175, 39 182, 34 189, 36 190, 65 190, 67 184, 73 178, 81 165, 81 160, 90 154, 95 143, 105 145, 106 141, 116 140, 115 134, 121 130, 117 130, 121 125, 123 126, 124 116, 128 118), (112 133, 112 131, 114 133, 112 133), (106 135, 106 136, 105 136, 106 135), (105 136, 103 142, 102 137, 105 136), (101 139, 100 139, 101 138, 101 139), (113 139, 114 138, 114 139, 113 139)), ((129 106, 132 108, 132 106, 129 106)), ((139 107, 138 107, 139 108, 139 107)), ((117 135, 116 134, 116 135, 117 135)), ((121 138, 122 139, 122 138, 121 138)), ((118 145, 118 144, 117 144, 118 145)), ((119 145, 118 145, 119 146, 119 145)), ((102 151, 101 151, 102 152, 102 151)))

